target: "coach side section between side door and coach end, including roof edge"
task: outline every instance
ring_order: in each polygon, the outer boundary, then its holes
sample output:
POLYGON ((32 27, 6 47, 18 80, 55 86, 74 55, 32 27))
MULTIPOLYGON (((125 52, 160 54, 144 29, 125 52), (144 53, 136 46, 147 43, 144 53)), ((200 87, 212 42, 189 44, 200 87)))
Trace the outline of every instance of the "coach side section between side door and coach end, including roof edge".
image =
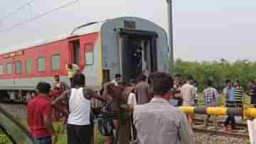
POLYGON ((105 21, 78 28, 73 34, 80 35, 82 73, 85 84, 95 90, 102 88, 102 39, 101 27, 105 21))

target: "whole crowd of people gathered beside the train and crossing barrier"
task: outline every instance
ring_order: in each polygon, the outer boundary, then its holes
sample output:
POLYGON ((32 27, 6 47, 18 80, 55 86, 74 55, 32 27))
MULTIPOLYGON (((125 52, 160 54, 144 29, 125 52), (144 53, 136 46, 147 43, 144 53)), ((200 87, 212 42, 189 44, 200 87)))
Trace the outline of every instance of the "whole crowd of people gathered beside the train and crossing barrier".
MULTIPOLYGON (((184 82, 180 74, 172 79, 170 74, 153 72, 141 74, 124 84, 122 75, 116 74, 105 82, 100 92, 87 89, 85 74, 78 67, 68 64, 70 89, 54 76, 53 84, 38 83, 36 96, 28 102, 28 126, 36 144, 56 143, 57 134, 53 129, 55 121, 63 120, 66 125, 69 144, 91 144, 94 135, 95 111, 93 99, 102 101, 101 116, 98 120, 100 133, 105 144, 140 143, 193 143, 193 114, 187 116, 178 106, 197 106, 198 90, 193 77, 184 82), (103 116, 102 113, 105 113, 103 116)), ((255 81, 250 82, 252 104, 256 103, 255 81)), ((244 90, 239 80, 232 84, 228 79, 223 94, 228 107, 240 107, 244 90)), ((208 79, 203 90, 206 106, 216 106, 220 94, 208 79)), ((206 116, 205 126, 210 115, 206 116)), ((216 120, 216 118, 215 118, 216 120)), ((235 128, 235 117, 230 115, 223 124, 235 128)))

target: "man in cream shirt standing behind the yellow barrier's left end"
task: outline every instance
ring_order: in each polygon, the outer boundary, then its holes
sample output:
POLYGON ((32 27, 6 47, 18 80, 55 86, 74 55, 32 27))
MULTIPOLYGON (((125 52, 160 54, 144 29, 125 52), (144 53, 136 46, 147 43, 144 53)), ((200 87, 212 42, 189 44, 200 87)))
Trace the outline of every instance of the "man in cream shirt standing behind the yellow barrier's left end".
MULTIPOLYGON (((183 98, 183 106, 194 106, 195 88, 193 87, 193 77, 188 77, 186 84, 181 87, 181 95, 183 98)), ((187 114, 188 123, 193 126, 193 114, 187 114)))

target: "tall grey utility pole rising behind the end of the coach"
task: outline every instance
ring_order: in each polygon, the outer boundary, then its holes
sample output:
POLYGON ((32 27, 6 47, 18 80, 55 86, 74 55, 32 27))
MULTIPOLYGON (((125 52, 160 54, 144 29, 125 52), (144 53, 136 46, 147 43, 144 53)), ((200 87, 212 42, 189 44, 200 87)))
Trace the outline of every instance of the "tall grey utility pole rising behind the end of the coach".
POLYGON ((173 17, 172 17, 172 0, 167 1, 168 23, 169 23, 169 48, 170 48, 170 72, 174 74, 174 33, 173 33, 173 17))

